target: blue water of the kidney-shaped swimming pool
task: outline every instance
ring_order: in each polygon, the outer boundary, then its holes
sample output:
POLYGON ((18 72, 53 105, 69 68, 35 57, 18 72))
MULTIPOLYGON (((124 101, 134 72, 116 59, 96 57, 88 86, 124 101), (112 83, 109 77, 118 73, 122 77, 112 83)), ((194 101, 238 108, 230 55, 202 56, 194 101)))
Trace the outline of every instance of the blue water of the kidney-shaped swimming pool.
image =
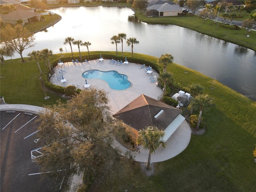
POLYGON ((108 83, 109 87, 114 90, 125 90, 130 87, 130 82, 127 76, 118 73, 117 71, 99 71, 89 70, 82 74, 86 79, 101 79, 108 83))

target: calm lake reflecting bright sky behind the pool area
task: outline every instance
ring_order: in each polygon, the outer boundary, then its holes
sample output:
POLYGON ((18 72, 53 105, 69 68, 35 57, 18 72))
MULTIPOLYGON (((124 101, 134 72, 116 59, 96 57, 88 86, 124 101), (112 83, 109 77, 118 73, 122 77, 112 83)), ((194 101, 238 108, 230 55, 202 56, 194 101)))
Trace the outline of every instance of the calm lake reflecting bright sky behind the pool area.
MULTIPOLYGON (((128 16, 134 14, 129 8, 98 6, 52 11, 61 15, 62 20, 48 28, 48 32, 35 34, 35 50, 49 48, 60 53, 62 47, 66 54, 66 50, 71 50, 63 42, 71 36, 91 42, 89 51, 115 51, 116 46, 110 43, 110 38, 126 33, 127 38, 136 37, 140 42, 134 45, 134 52, 156 57, 170 53, 174 62, 210 76, 256 101, 256 53, 250 49, 175 25, 128 22, 128 16)), ((78 52, 77 46, 72 48, 78 52)), ((80 50, 87 51, 87 48, 80 50)), ((118 51, 121 50, 118 44, 118 51)), ((30 51, 25 50, 23 55, 30 51)), ((124 44, 124 51, 131 52, 131 47, 124 44)))

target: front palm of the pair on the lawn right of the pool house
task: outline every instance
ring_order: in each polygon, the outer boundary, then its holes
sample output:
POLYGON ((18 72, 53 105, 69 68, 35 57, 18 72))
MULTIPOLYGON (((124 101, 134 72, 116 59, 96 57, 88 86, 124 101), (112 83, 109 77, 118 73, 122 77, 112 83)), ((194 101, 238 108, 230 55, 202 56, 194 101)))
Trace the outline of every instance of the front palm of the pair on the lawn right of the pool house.
POLYGON ((208 94, 199 94, 198 96, 196 96, 195 98, 192 99, 192 102, 191 102, 192 106, 194 108, 198 108, 198 107, 200 108, 198 122, 197 122, 197 126, 196 126, 197 130, 200 125, 203 110, 208 111, 209 107, 214 106, 212 101, 213 101, 213 99, 208 94))

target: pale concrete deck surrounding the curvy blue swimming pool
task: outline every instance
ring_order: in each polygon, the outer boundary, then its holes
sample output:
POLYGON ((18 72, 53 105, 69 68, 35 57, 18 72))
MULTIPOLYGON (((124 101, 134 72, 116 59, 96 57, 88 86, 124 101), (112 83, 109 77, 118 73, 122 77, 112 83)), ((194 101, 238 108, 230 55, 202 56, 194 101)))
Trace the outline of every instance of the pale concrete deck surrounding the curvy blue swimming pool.
POLYGON ((154 76, 158 78, 158 73, 153 69, 153 74, 149 76, 146 74, 144 68, 139 68, 142 66, 141 64, 129 63, 128 66, 124 66, 124 64, 110 64, 109 61, 109 59, 104 59, 103 62, 99 62, 98 60, 89 60, 89 64, 86 62, 79 62, 76 64, 66 62, 64 63, 64 66, 55 67, 56 74, 60 74, 58 73, 59 69, 66 70, 63 74, 63 77, 67 79, 66 84, 62 84, 60 81, 57 81, 54 75, 51 77, 50 81, 59 86, 79 84, 78 88, 83 89, 85 78, 82 77, 82 73, 90 69, 97 69, 101 71, 115 70, 120 74, 128 76, 128 81, 132 83, 132 87, 126 90, 113 90, 108 86, 108 83, 103 80, 86 79, 87 84, 96 88, 104 89, 108 93, 112 114, 115 114, 120 109, 124 108, 141 94, 157 100, 158 96, 161 96, 163 93, 162 89, 157 87, 155 82, 150 82, 148 79, 149 77, 154 76))

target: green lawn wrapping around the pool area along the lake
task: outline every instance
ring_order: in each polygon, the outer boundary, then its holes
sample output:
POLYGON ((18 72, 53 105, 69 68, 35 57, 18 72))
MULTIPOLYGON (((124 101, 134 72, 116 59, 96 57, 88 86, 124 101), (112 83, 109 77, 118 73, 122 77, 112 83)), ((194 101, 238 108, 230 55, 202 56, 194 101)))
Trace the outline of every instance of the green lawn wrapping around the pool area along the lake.
MULTIPOLYGON (((115 56, 115 52, 106 51, 90 54, 115 56)), ((88 56, 87 52, 82 52, 82 55, 88 56)), ((78 58, 78 53, 74 53, 74 56, 78 58)), ((118 52, 118 56, 121 57, 121 52, 118 52)), ((124 52, 124 56, 131 57, 131 53, 124 52)), ((54 54, 50 61, 58 58, 60 54, 54 54)), ((136 58, 157 61, 156 57, 134 53, 136 58)), ((48 70, 43 61, 40 66, 42 70, 48 70)), ((184 66, 172 64, 167 70, 180 86, 200 84, 204 87, 204 93, 214 98, 216 106, 202 113, 206 132, 192 135, 188 147, 178 156, 154 163, 152 176, 142 173, 140 163, 133 165, 131 162, 124 164, 121 177, 109 173, 96 191, 256 191, 256 163, 252 154, 256 144, 256 102, 184 66)), ((1 96, 8 104, 43 106, 56 104, 58 99, 66 101, 60 95, 44 90, 35 61, 22 63, 20 58, 6 60, 1 64, 0 76, 1 96), (44 92, 50 96, 48 100, 44 100, 44 92)), ((198 113, 194 111, 194 114, 198 113)))

